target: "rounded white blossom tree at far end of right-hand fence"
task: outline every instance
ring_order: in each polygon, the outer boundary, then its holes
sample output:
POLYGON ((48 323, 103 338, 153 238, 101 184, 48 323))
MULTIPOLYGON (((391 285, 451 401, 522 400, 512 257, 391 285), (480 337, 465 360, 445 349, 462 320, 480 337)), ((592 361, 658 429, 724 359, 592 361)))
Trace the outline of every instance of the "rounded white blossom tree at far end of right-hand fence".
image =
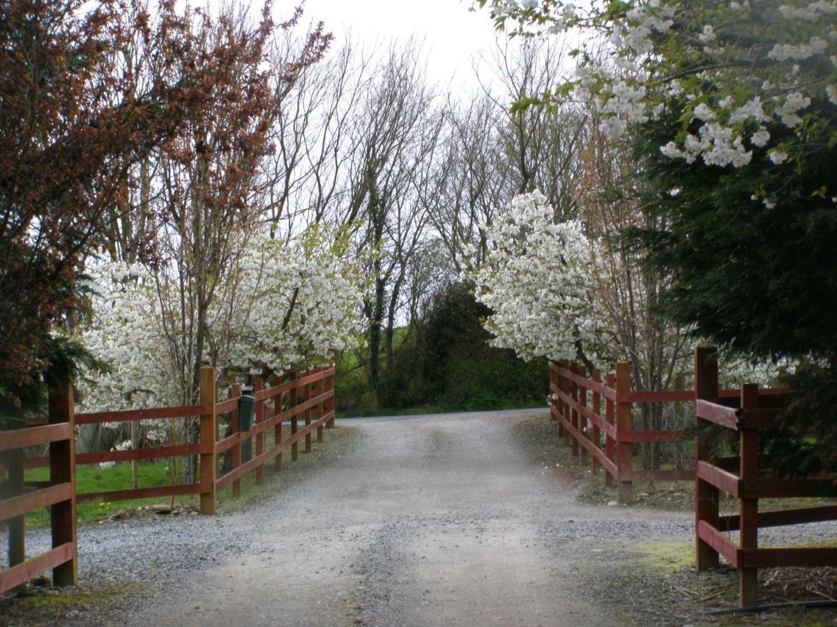
POLYGON ((576 343, 592 344, 594 328, 581 223, 556 223, 546 197, 534 191, 516 196, 485 231, 485 263, 473 268, 467 250, 463 262, 476 299, 493 312, 485 322, 492 344, 522 359, 575 359, 576 343))

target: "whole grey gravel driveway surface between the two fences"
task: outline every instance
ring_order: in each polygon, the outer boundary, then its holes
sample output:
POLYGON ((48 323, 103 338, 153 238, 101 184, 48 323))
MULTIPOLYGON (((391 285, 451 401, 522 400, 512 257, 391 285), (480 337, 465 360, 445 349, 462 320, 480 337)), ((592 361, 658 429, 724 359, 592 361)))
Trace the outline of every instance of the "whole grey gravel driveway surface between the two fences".
MULTIPOLYGON (((357 437, 254 507, 81 528, 82 590, 120 594, 29 620, 23 599, 7 622, 693 624, 707 590, 736 591, 688 568, 691 513, 578 503, 571 462, 532 453, 557 441, 543 411, 347 422, 357 437)), ((769 538, 837 527, 788 533, 769 538)))

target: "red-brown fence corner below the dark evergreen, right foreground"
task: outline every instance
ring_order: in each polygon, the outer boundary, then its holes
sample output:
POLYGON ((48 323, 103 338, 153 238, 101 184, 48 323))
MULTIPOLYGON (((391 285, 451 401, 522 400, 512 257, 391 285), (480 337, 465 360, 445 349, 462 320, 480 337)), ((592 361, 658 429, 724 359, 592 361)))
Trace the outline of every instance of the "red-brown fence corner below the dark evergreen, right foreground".
POLYGON ((822 497, 833 494, 837 477, 777 477, 770 461, 759 456, 759 431, 779 426, 775 395, 760 395, 756 385, 742 385, 737 397, 721 398, 714 349, 695 352, 696 426, 711 423, 737 433, 739 455, 708 459, 707 442, 696 446, 696 568, 717 567, 719 556, 738 569, 742 607, 756 602, 757 569, 783 566, 837 566, 837 548, 759 548, 758 529, 837 520, 837 505, 759 512, 760 498, 822 497), (733 403, 730 400, 734 401, 733 403), (728 405, 733 405, 728 406, 728 405), (738 513, 721 516, 719 493, 739 500, 738 513), (738 531, 736 543, 730 533, 738 531))

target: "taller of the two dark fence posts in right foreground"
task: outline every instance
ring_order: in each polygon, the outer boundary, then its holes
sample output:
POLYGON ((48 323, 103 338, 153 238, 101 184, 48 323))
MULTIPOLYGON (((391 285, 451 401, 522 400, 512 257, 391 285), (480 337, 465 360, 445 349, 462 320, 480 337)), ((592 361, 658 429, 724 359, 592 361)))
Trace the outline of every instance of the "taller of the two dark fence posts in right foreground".
MULTIPOLYGON (((718 401, 718 353, 709 346, 695 349, 695 398, 696 400, 718 401)), ((705 482, 697 475, 698 462, 709 456, 709 442, 701 441, 701 419, 695 412, 695 566, 698 571, 717 568, 718 552, 697 535, 701 520, 716 523, 718 519, 718 488, 705 482)))

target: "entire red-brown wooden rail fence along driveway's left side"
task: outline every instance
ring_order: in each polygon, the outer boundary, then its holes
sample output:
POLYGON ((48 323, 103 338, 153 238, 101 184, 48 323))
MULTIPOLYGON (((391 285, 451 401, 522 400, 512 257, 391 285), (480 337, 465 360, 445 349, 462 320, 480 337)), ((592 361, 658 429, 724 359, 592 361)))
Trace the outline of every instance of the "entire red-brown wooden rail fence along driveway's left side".
MULTIPOLYGON (((315 368, 303 373, 289 373, 272 380, 264 387, 260 379, 254 381, 254 424, 249 431, 239 430, 239 397, 241 386, 234 385, 228 400, 217 402, 215 370, 203 367, 200 373, 199 405, 157 407, 142 410, 101 411, 78 413, 73 411, 72 387, 49 396, 49 424, 30 426, 16 431, 0 432, 0 452, 43 445, 49 442, 49 457, 29 457, 8 468, 9 478, 3 493, 23 492, 19 496, 0 501, 0 522, 9 524, 9 568, 0 570, 0 594, 25 583, 29 579, 53 569, 56 585, 76 582, 75 503, 119 501, 125 499, 172 497, 186 494, 200 495, 200 511, 213 514, 218 490, 232 485, 234 497, 240 494, 241 479, 255 472, 255 482, 264 482, 264 465, 275 460, 275 469, 282 464, 282 451, 290 447, 291 459, 296 460, 298 442, 304 438, 306 452, 311 452, 312 436, 323 441, 323 429, 334 426, 334 368, 315 368), (229 415, 230 435, 218 441, 218 415, 229 415), (74 425, 105 422, 177 419, 195 416, 199 421, 200 439, 197 444, 155 446, 127 451, 101 451, 74 454, 74 425), (300 429, 299 421, 304 426, 300 429), (283 439, 283 423, 290 423, 290 433, 283 439), (265 451, 265 432, 274 430, 274 443, 265 451), (254 456, 242 462, 242 444, 252 438, 254 456), (231 469, 219 475, 218 456, 231 451, 231 469), (103 461, 133 461, 164 459, 197 455, 200 477, 198 482, 157 487, 129 488, 110 492, 76 493, 74 468, 80 464, 103 461), (50 480, 41 485, 23 482, 23 468, 50 468, 50 480), (52 506, 53 549, 37 558, 23 561, 23 517, 39 507, 52 506)), ((21 451, 21 454, 23 451, 21 451)))

